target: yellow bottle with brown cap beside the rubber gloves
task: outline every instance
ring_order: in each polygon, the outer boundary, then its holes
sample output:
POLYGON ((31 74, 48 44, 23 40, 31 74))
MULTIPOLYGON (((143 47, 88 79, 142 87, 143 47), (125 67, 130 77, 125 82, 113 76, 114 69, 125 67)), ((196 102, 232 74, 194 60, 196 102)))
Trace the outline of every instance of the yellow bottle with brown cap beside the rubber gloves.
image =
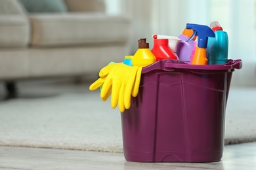
POLYGON ((156 57, 149 49, 149 44, 146 39, 138 40, 139 49, 134 54, 132 61, 133 65, 146 67, 154 62, 156 62, 156 57))

